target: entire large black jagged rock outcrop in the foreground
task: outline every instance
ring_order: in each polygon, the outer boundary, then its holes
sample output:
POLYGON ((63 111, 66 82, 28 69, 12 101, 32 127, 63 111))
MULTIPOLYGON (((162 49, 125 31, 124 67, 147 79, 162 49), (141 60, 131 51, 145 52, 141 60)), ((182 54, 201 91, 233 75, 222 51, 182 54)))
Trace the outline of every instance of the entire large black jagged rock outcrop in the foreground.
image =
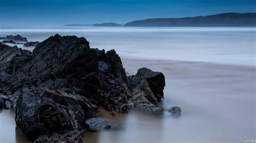
POLYGON ((33 52, 0 43, 0 56, 0 87, 30 140, 79 142, 80 135, 69 133, 84 132, 98 106, 119 113, 162 110, 162 73, 142 68, 127 77, 114 50, 90 48, 83 37, 56 34, 33 52))

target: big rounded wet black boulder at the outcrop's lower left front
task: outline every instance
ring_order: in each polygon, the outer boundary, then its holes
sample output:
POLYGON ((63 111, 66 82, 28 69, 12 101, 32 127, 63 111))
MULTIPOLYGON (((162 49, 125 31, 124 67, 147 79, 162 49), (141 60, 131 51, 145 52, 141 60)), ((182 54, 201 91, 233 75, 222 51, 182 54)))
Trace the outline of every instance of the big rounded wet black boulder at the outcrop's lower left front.
POLYGON ((82 96, 63 90, 22 89, 16 106, 16 124, 29 139, 42 134, 82 131, 86 118, 95 115, 93 105, 82 96), (40 94, 39 96, 37 94, 40 94))

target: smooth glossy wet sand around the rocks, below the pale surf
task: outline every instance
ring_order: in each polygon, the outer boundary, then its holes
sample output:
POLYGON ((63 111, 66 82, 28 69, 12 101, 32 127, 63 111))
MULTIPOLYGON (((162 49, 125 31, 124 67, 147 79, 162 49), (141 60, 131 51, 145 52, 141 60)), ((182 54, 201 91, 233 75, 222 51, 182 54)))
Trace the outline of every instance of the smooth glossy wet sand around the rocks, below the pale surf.
MULTIPOLYGON (((161 115, 131 110, 112 116, 100 110, 112 129, 86 132, 84 142, 240 142, 255 139, 255 67, 215 63, 142 60, 122 57, 131 75, 147 67, 166 77, 161 115), (172 116, 171 106, 181 107, 172 116)), ((10 110, 0 113, 0 142, 26 142, 15 131, 10 110)))

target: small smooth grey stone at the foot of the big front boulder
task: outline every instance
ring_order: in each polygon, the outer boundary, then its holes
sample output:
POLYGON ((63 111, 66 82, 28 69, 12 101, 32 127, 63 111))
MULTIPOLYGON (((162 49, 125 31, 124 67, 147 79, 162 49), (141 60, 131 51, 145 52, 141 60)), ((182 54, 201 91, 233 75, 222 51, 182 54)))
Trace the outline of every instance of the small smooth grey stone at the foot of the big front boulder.
POLYGON ((90 131, 100 131, 103 129, 111 128, 109 122, 103 118, 91 118, 86 121, 86 124, 89 125, 90 131))

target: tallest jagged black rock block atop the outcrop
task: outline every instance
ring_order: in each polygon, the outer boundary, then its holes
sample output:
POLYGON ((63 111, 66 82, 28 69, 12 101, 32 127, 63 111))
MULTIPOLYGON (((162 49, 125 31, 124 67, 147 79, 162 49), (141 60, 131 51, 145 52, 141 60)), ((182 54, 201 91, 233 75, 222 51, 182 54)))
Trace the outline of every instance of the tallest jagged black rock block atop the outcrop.
POLYGON ((98 72, 97 53, 85 38, 55 35, 33 49, 31 75, 34 82, 59 77, 83 77, 98 72), (38 77, 39 76, 39 81, 38 77))

